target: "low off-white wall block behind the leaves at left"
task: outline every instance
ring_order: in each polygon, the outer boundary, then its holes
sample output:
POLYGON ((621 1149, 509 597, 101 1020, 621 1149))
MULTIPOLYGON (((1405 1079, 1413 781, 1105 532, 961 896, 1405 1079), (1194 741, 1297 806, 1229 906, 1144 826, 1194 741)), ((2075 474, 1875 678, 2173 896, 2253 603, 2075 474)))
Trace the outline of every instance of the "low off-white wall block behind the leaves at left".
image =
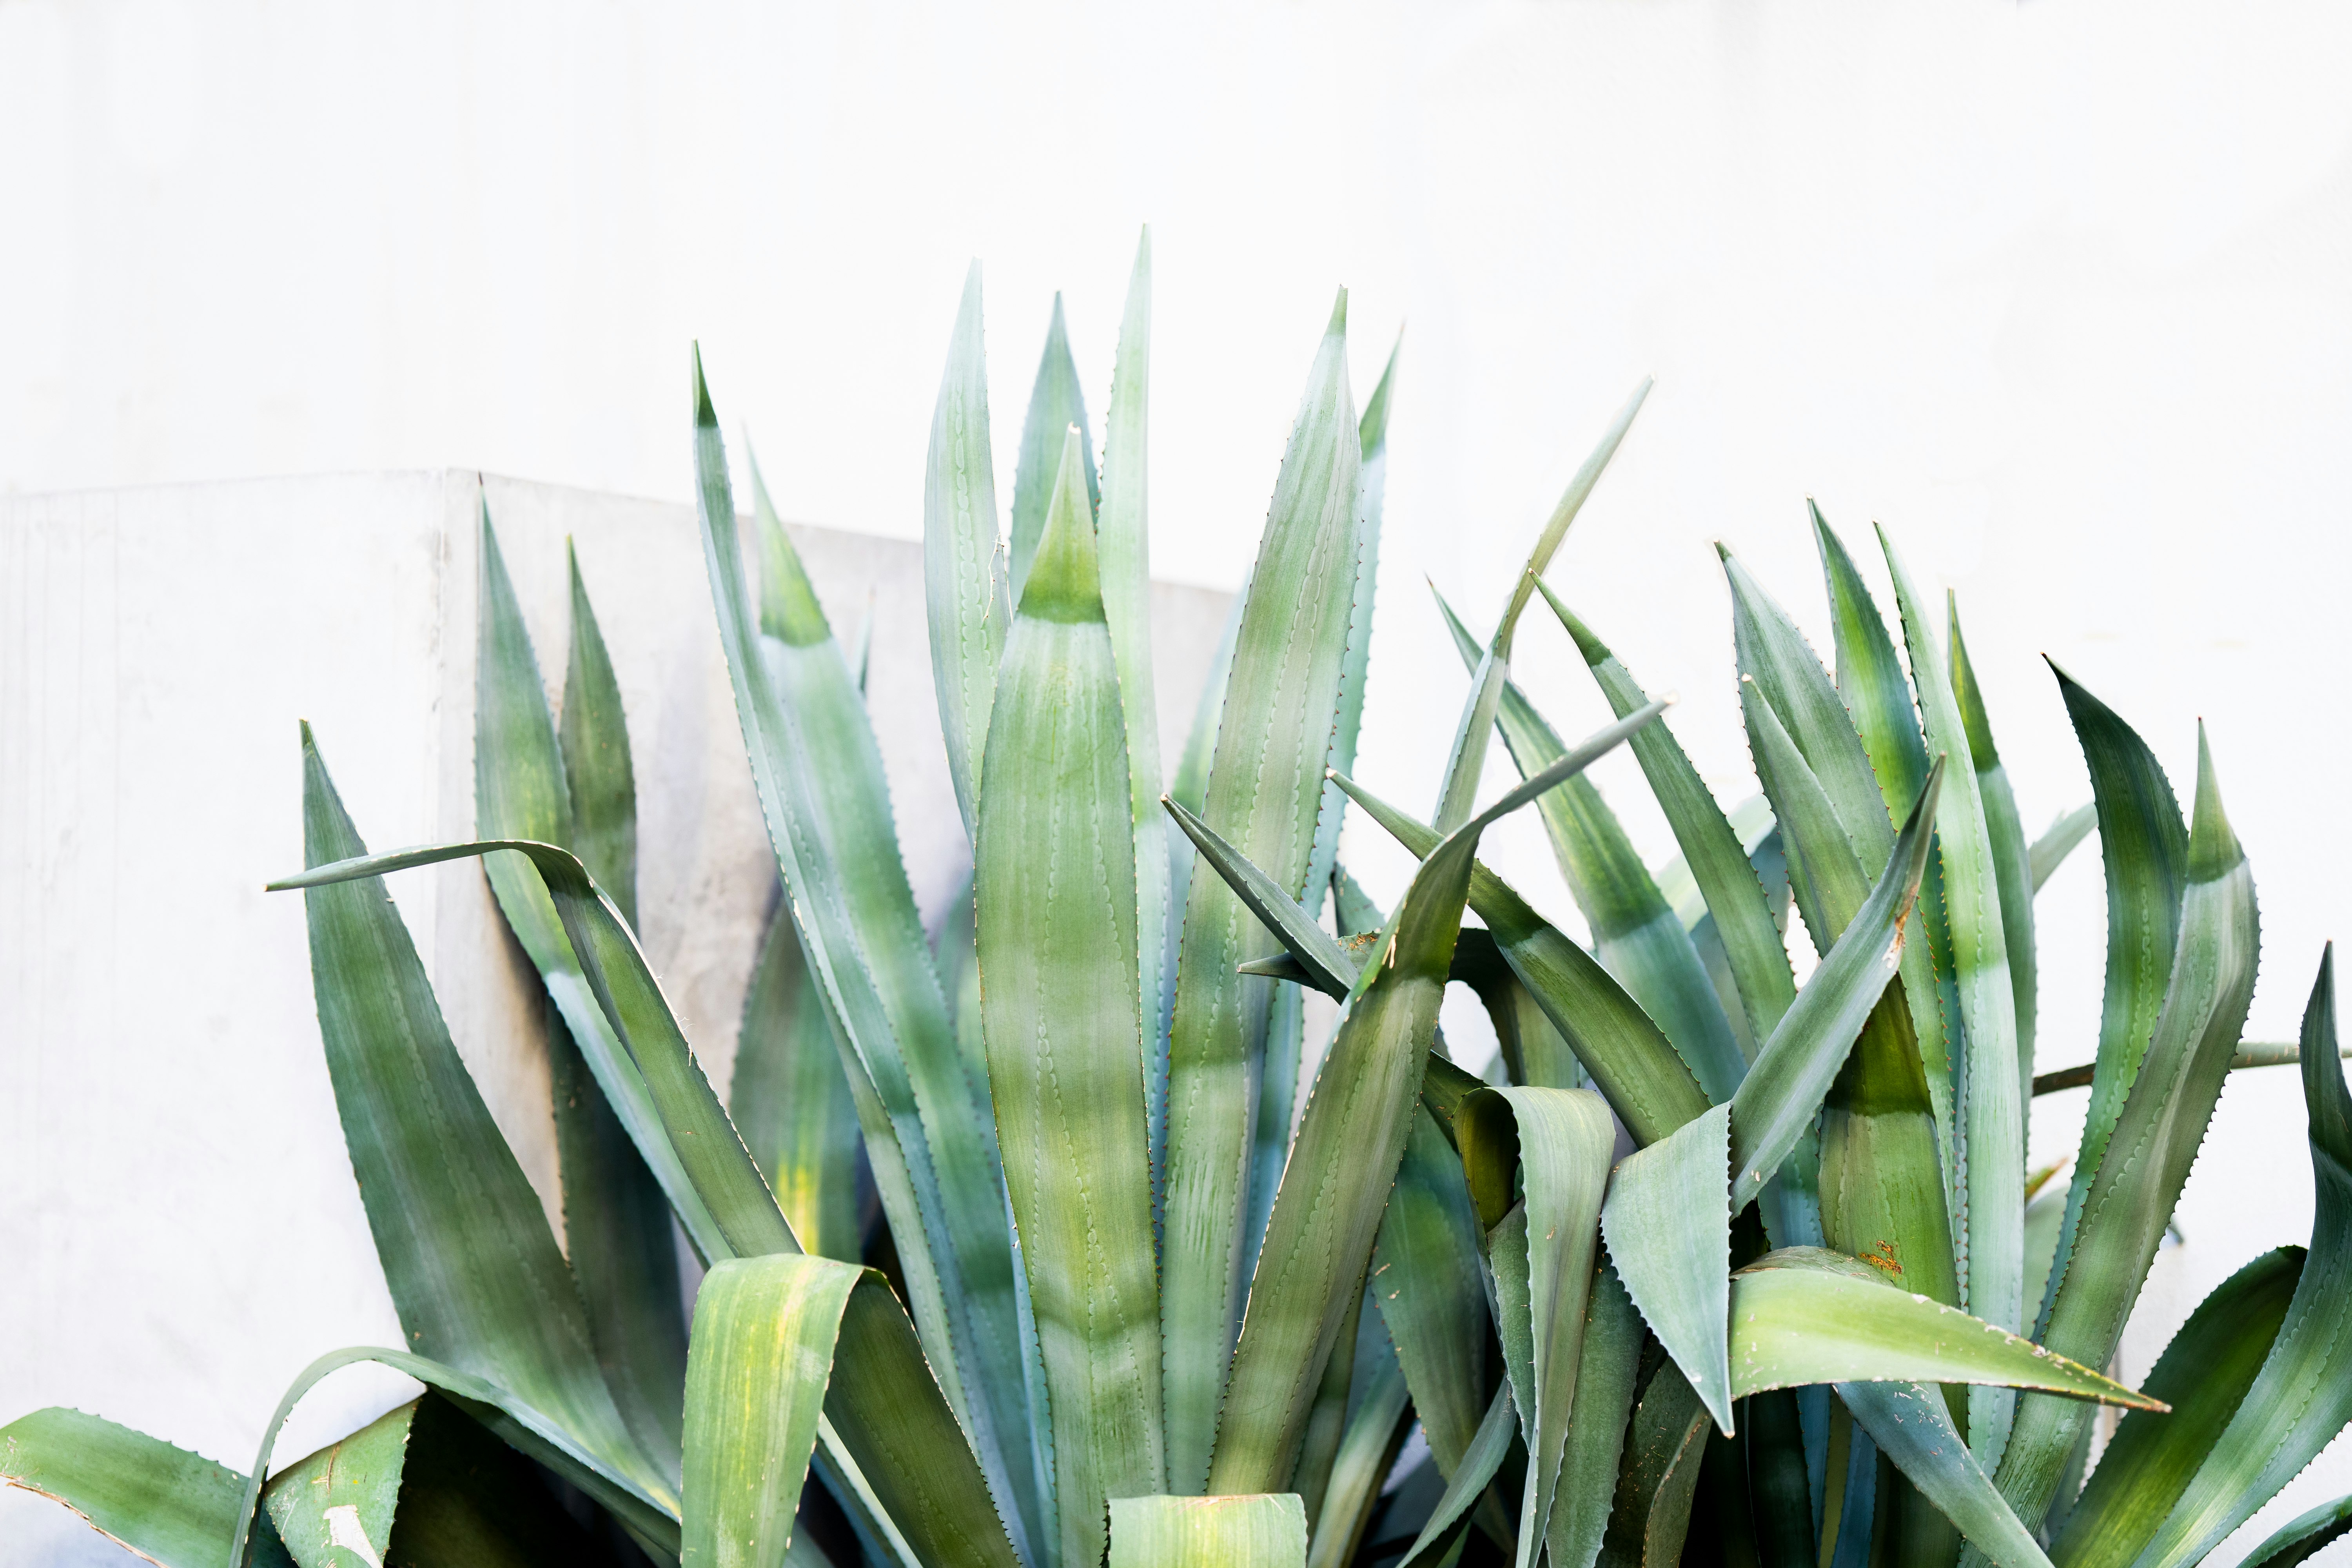
MULTIPOLYGON (((687 508, 473 473, 0 498, 0 1410, 71 1403, 240 1469, 313 1356, 397 1345, 318 1046, 294 722, 372 846, 473 837, 475 496, 541 670, 562 677, 564 536, 621 677, 640 922, 722 1086, 776 863, 687 508)), ((915 893, 969 853, 924 637, 922 552, 795 529, 868 705, 915 893)), ((1152 590, 1174 750, 1225 595, 1152 590)), ((390 879, 449 1030, 562 1225, 536 976, 477 863, 390 879)), ((409 1396, 355 1368, 285 1453, 409 1396)), ((0 1563, 118 1561, 0 1490, 0 1563)))

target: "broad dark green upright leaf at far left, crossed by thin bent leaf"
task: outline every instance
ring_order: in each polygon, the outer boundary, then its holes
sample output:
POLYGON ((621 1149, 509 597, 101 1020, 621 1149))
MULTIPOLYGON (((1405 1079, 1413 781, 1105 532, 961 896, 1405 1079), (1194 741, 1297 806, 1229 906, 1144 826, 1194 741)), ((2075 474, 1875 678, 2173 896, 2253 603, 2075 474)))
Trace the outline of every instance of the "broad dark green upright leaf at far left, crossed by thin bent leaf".
MULTIPOLYGON (((303 726, 303 856, 318 867, 365 853, 303 726)), ((306 905, 327 1077, 407 1342, 513 1389, 673 1505, 614 1406, 539 1194, 449 1039, 400 912, 381 884, 318 886, 306 905)))

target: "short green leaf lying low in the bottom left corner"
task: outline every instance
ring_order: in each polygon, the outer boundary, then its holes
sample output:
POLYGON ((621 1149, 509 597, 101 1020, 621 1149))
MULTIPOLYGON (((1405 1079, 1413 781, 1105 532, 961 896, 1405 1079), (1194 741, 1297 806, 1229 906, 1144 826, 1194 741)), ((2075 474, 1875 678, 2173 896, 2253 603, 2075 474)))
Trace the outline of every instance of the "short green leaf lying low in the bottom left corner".
MULTIPOLYGON (((89 1528, 165 1568, 219 1568, 249 1476, 146 1432, 52 1406, 0 1427, 0 1483, 64 1502, 89 1528)), ((289 1568, 278 1530, 254 1533, 256 1568, 289 1568)))

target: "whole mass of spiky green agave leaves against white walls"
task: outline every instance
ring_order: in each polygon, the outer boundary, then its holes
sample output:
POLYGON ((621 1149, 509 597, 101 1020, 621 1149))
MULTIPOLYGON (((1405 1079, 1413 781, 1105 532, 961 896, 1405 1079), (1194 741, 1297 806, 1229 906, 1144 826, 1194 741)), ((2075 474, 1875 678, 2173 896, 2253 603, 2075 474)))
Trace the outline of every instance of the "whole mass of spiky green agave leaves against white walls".
MULTIPOLYGON (((1724 555, 1764 785, 1726 813, 1543 581, 1637 393, 1494 630, 1437 607, 1470 679, 1435 809, 1374 797, 1350 771, 1395 355, 1359 414, 1343 296, 1169 773, 1148 322, 1145 249, 1096 470, 1056 310, 1007 538, 967 284, 924 491, 974 846, 938 933, 863 656, 757 468, 741 538, 696 367, 701 536, 783 893, 727 1100, 633 933, 630 738, 581 567, 557 705, 485 512, 482 837, 369 856, 306 729, 310 870, 278 884, 306 889, 407 1345, 313 1363, 249 1474, 71 1410, 0 1429, 0 1474, 205 1568, 2171 1568, 2319 1453, 2352 1418, 2333 976, 2298 1046, 2241 1044, 2253 882, 2201 741, 2183 823, 2150 748, 2058 672, 2096 799, 2027 842, 1957 611, 1940 630, 1882 541, 1891 630, 1816 512, 1835 677, 1724 555), (1618 715, 1578 745, 1510 679, 1538 597, 1618 715), (1522 783, 1479 809, 1494 736, 1522 783), (1621 743, 1672 865, 1583 776, 1621 743), (1418 858, 1390 912, 1338 860, 1350 804, 1418 858), (1590 947, 1477 858, 1529 804, 1590 947), (2034 889, 2093 827, 2096 1060, 2034 1079, 2034 889), (379 882, 468 856, 546 983, 564 1246, 379 882), (1454 980, 1494 1020, 1484 1072, 1437 1030, 1454 980), (1338 999, 1315 1053, 1308 987, 1338 999), (2129 1389, 2098 1368, 2223 1079, 2279 1060, 2310 1107, 2312 1244, 2246 1265, 2129 1389), (2027 1173, 2032 1095, 2084 1084, 2072 1173, 2027 1173), (673 1227, 703 1265, 691 1312, 673 1227), (353 1361, 428 1392, 270 1474, 287 1410, 353 1361), (2100 1403, 2129 1415, 2084 1479, 2100 1403)), ((2338 1502, 2246 1561, 2347 1528, 2338 1502)))

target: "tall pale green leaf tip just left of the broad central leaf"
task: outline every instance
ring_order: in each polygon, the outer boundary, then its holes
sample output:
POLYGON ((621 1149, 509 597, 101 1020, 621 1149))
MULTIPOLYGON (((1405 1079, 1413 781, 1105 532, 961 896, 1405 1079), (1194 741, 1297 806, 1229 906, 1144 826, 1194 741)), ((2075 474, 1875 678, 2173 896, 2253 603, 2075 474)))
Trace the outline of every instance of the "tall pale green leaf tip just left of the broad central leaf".
MULTIPOLYGON (((694 360, 694 402, 703 393, 701 355, 694 360)), ((717 447, 717 428, 710 428, 717 447)), ((703 489, 722 477, 703 463, 703 489)), ((734 515, 727 517, 734 531, 734 515)), ((703 522, 710 534, 710 520, 703 522)), ((713 569, 715 571, 715 569, 713 569)), ((964 832, 974 827, 981 795, 981 752, 988 745, 988 705, 997 693, 997 654, 1011 621, 1004 581, 1004 541, 997 534, 997 475, 988 444, 988 350, 981 346, 981 263, 964 275, 964 301, 948 339, 948 369, 931 407, 931 451, 922 473, 922 585, 931 611, 931 679, 938 686, 938 726, 948 738, 948 776, 964 832)), ((713 590, 717 583, 713 583, 713 590)), ((720 609, 727 618, 727 609, 720 609)), ((736 693, 736 705, 743 705, 736 693)), ((746 719, 750 726, 750 719, 746 719)), ((757 750, 757 748, 753 748, 757 750)), ((774 813, 769 816, 774 825, 774 813)))

